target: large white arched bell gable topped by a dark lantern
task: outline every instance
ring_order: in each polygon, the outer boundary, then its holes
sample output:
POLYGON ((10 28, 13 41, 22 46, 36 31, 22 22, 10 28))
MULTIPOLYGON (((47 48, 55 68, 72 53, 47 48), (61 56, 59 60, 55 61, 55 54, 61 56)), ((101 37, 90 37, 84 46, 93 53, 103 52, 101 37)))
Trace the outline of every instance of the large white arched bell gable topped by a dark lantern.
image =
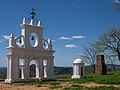
POLYGON ((10 35, 5 83, 55 79, 52 42, 43 39, 44 28, 40 21, 35 23, 34 16, 35 11, 32 11, 30 22, 23 19, 20 36, 10 35), (31 61, 35 62, 35 77, 30 76, 31 61))

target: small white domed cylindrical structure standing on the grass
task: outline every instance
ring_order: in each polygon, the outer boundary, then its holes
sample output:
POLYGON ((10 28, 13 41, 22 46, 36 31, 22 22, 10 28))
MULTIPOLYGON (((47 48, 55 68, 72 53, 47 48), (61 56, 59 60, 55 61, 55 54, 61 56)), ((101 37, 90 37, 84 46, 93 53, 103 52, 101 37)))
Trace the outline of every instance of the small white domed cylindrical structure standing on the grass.
POLYGON ((84 76, 84 63, 82 59, 73 62, 73 75, 71 78, 81 78, 84 76))

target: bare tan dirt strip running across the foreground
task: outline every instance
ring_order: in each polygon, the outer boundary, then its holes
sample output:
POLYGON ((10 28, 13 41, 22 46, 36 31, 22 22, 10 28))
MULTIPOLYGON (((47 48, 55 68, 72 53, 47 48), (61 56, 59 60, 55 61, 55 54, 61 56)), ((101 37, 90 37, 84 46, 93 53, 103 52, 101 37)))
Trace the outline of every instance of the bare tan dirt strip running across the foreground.
MULTIPOLYGON (((61 83, 59 86, 61 86, 61 88, 56 88, 54 90, 64 90, 65 87, 71 87, 72 85, 80 85, 80 86, 84 86, 84 87, 99 87, 99 86, 114 86, 114 87, 118 87, 120 88, 120 85, 108 85, 108 84, 97 84, 97 83, 93 83, 93 82, 89 82, 89 83, 85 83, 85 84, 78 84, 78 83, 70 83, 70 82, 64 82, 61 83)), ((17 85, 17 84, 5 84, 4 82, 0 82, 0 90, 53 90, 50 88, 51 85, 49 84, 44 84, 41 86, 36 86, 36 85, 17 85)))

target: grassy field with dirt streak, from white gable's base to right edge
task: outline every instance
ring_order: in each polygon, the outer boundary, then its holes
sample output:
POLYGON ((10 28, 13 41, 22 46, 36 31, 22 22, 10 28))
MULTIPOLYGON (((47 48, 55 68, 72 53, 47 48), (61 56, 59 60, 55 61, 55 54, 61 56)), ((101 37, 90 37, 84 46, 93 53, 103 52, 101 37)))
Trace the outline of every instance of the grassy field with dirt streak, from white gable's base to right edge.
POLYGON ((109 72, 107 75, 88 74, 80 79, 71 79, 70 75, 56 75, 55 81, 17 83, 17 85, 35 85, 62 90, 120 90, 120 72, 109 72), (86 85, 95 83, 98 86, 86 85))

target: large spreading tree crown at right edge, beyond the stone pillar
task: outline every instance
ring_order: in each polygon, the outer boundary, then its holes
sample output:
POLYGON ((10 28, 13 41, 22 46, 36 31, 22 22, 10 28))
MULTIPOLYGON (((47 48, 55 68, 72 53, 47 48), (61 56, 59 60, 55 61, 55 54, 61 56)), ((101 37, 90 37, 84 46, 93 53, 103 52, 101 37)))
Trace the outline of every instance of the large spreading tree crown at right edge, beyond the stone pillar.
POLYGON ((120 28, 112 28, 110 31, 100 34, 93 44, 98 52, 114 54, 120 61, 120 28))

